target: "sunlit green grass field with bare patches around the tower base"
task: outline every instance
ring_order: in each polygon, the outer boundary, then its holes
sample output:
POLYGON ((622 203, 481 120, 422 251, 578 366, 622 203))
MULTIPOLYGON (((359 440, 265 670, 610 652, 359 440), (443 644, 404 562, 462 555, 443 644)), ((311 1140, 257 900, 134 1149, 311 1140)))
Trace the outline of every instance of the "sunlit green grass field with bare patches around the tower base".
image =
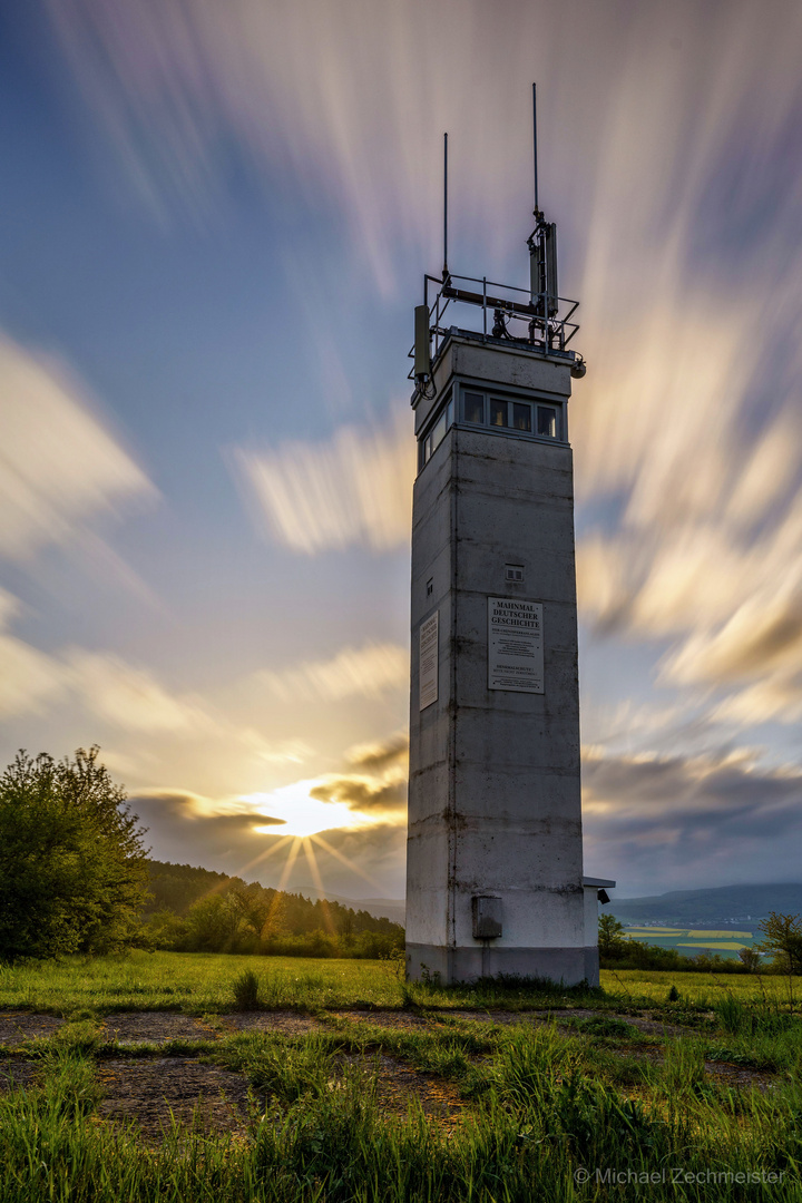
POLYGON ((0 1061, 24 1083, 0 1089, 0 1199, 791 1203, 797 994, 802 979, 637 971, 604 971, 598 991, 410 989, 386 962, 201 954, 6 968, 0 1008, 69 1021, 0 1061), (143 1044, 133 1060, 100 1029, 119 1009, 213 1023, 248 971, 262 1009, 308 1012, 307 1026, 218 1025, 214 1039, 143 1044), (246 1081, 242 1125, 154 1142, 105 1118, 131 1066, 166 1077, 176 1065, 246 1081))

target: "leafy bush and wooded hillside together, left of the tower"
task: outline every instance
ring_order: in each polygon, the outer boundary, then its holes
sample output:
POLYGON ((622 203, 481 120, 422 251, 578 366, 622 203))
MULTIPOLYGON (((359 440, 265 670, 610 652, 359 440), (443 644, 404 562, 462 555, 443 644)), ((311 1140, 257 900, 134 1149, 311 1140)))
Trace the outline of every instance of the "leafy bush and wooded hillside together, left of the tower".
POLYGON ((124 948, 380 956, 404 929, 367 911, 150 861, 99 759, 20 751, 0 777, 0 961, 124 948))

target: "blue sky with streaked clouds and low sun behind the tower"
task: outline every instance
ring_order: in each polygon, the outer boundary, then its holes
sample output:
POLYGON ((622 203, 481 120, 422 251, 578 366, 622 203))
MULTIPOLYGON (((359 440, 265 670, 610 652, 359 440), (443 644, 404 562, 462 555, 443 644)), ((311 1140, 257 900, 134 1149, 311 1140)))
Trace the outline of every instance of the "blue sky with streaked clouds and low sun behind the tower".
POLYGON ((586 872, 798 879, 802 8, 6 0, 0 763, 162 860, 404 893, 424 271, 578 297, 586 872))

